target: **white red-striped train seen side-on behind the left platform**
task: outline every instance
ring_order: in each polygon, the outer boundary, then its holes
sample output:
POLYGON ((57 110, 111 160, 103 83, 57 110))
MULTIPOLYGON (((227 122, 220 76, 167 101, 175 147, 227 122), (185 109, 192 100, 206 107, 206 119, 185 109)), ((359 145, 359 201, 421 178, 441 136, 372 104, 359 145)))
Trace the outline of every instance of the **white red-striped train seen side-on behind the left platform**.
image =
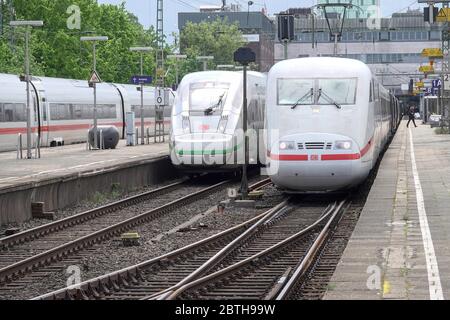
MULTIPOLYGON (((30 88, 32 131, 39 133, 42 146, 86 141, 94 110, 93 89, 87 81, 34 76, 30 88)), ((144 88, 145 126, 153 130, 155 89, 144 88)), ((16 75, 0 74, 0 151, 16 149, 19 133, 24 134, 26 144, 26 99, 25 82, 16 75)), ((98 84, 98 124, 115 125, 125 138, 126 112, 135 111, 140 128, 140 99, 134 85, 98 84)), ((170 108, 166 108, 165 118, 169 124, 170 108)))

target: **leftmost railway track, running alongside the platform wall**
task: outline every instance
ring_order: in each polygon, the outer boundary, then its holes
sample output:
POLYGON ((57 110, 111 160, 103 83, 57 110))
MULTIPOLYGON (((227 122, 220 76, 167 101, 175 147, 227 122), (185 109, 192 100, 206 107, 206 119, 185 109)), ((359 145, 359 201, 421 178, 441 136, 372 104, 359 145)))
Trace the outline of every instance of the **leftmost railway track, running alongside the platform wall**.
MULTIPOLYGON (((0 251, 0 285, 10 285, 11 282, 33 272, 39 274, 42 267, 51 270, 54 265, 57 268, 58 262, 63 259, 73 258, 76 261, 83 257, 82 251, 89 251, 95 244, 201 199, 229 182, 222 181, 208 187, 188 187, 187 182, 182 181, 3 238, 3 250, 0 251), (147 208, 150 210, 130 210, 136 203, 149 199, 152 199, 147 208)), ((260 182, 256 187, 264 183, 267 181, 260 182)))

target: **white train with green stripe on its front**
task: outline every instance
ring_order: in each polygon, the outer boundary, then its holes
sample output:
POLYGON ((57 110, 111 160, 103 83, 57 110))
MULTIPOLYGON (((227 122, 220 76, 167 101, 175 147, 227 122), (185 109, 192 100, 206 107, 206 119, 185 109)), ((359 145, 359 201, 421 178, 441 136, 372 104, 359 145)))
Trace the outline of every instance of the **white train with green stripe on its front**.
MULTIPOLYGON (((248 72, 248 128, 264 128, 266 80, 248 72)), ((192 73, 183 78, 172 109, 172 163, 186 172, 234 170, 244 161, 242 132, 243 74, 192 73)), ((250 163, 257 163, 262 139, 251 135, 250 163)))

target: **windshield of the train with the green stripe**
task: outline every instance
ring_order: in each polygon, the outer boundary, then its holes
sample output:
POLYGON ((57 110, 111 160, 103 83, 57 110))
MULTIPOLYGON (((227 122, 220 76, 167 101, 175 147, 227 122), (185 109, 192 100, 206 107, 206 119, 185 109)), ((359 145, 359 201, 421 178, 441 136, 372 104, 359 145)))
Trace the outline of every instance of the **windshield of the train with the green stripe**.
POLYGON ((221 114, 229 89, 230 84, 224 82, 191 84, 189 90, 189 111, 191 115, 221 114))

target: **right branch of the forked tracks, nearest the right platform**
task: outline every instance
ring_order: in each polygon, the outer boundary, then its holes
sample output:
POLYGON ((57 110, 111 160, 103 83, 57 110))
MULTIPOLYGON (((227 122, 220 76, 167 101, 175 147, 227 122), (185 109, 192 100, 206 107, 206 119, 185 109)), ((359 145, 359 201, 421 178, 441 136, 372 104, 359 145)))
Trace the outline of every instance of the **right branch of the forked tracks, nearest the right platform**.
POLYGON ((327 207, 322 214, 313 214, 311 208, 299 222, 294 231, 293 225, 298 219, 295 212, 282 219, 289 221, 285 227, 281 224, 276 232, 273 228, 265 236, 257 237, 253 245, 244 241, 224 261, 229 266, 202 278, 193 280, 176 290, 156 297, 165 300, 227 300, 285 299, 291 288, 297 283, 298 275, 308 268, 318 250, 338 223, 346 201, 327 207), (292 219, 292 218, 291 218, 292 219), (305 225, 303 225, 305 224, 305 225), (289 229, 292 231, 289 232, 289 229), (277 236, 273 237, 273 234, 277 236), (285 233, 284 237, 280 236, 285 233), (268 248, 264 248, 265 246, 268 248), (261 247, 262 246, 262 247, 261 247))

